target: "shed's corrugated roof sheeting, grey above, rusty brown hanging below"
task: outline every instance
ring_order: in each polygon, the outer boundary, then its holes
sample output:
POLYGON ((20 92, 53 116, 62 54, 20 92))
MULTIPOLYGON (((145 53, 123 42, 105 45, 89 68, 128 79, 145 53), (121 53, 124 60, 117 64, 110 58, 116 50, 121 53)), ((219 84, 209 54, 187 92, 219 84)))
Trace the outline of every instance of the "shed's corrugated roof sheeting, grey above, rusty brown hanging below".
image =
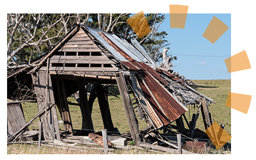
POLYGON ((172 79, 175 76, 164 72, 164 70, 155 70, 152 68, 159 68, 159 66, 150 61, 152 59, 148 58, 148 55, 145 55, 143 49, 138 46, 136 46, 136 49, 132 47, 132 44, 138 45, 138 43, 133 42, 129 44, 126 40, 115 36, 115 34, 104 33, 99 29, 88 27, 86 29, 118 58, 125 67, 128 67, 129 70, 136 70, 139 73, 134 74, 134 76, 138 80, 145 99, 150 103, 147 108, 147 111, 150 112, 148 115, 150 115, 151 120, 157 128, 161 127, 161 125, 169 124, 188 110, 177 99, 174 99, 164 86, 156 81, 158 79, 161 83, 168 84, 161 77, 161 74, 171 76, 172 79), (146 62, 149 62, 151 67, 146 62), (159 119, 161 122, 159 122, 159 119))

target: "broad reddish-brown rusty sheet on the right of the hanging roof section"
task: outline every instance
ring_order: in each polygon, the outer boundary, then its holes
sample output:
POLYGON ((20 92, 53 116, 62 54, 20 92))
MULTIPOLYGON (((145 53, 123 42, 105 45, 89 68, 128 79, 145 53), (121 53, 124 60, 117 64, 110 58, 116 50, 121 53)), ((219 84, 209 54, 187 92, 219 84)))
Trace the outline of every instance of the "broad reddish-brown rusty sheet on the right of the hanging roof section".
POLYGON ((180 115, 184 114, 187 110, 180 105, 180 102, 175 100, 163 86, 161 86, 157 81, 148 74, 145 70, 139 71, 140 76, 147 83, 148 88, 150 88, 154 97, 156 97, 157 102, 160 104, 161 108, 164 111, 164 114, 172 122, 179 118, 180 115))

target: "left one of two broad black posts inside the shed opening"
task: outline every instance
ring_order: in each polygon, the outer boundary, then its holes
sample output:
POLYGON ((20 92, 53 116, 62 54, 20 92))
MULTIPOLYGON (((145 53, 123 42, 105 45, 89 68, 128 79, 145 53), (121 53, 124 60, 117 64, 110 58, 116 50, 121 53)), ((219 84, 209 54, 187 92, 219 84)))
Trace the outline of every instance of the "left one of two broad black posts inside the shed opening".
POLYGON ((88 104, 87 90, 85 89, 84 81, 78 81, 77 86, 79 89, 80 108, 83 116, 83 124, 85 125, 85 129, 91 129, 92 131, 90 132, 93 132, 92 116, 90 114, 91 111, 88 104))

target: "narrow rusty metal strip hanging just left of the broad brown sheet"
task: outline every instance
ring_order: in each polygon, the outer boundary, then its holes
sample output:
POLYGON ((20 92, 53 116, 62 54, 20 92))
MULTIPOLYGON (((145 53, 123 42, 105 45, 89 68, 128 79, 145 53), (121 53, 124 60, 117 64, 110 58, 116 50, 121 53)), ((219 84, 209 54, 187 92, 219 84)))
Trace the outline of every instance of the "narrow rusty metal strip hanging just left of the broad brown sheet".
MULTIPOLYGON (((164 113, 161 111, 161 108, 159 108, 159 106, 157 105, 157 102, 154 100, 154 98, 152 97, 150 92, 147 90, 147 87, 143 84, 143 81, 141 80, 141 77, 139 76, 139 74, 136 73, 135 76, 136 76, 136 79, 138 80, 138 82, 140 84, 140 87, 141 87, 141 90, 142 90, 143 94, 145 95, 148 102, 150 103, 150 105, 152 106, 154 111, 156 112, 157 116, 162 121, 163 125, 169 124, 170 122, 168 121, 168 118, 166 118, 164 113)), ((151 117, 151 118, 154 119, 154 117, 151 117)))

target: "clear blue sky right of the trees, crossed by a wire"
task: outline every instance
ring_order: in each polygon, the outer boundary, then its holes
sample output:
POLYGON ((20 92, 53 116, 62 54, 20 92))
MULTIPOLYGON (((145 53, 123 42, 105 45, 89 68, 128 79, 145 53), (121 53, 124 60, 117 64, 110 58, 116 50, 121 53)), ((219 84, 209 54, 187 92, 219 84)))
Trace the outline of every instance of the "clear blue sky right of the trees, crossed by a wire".
POLYGON ((172 62, 173 65, 177 65, 173 67, 175 72, 179 72, 187 79, 231 79, 224 61, 231 56, 231 14, 188 13, 184 29, 170 28, 170 16, 165 15, 166 19, 159 29, 168 33, 166 40, 171 43, 168 52, 177 56, 178 60, 172 62), (229 28, 214 44, 202 36, 213 16, 229 28))

